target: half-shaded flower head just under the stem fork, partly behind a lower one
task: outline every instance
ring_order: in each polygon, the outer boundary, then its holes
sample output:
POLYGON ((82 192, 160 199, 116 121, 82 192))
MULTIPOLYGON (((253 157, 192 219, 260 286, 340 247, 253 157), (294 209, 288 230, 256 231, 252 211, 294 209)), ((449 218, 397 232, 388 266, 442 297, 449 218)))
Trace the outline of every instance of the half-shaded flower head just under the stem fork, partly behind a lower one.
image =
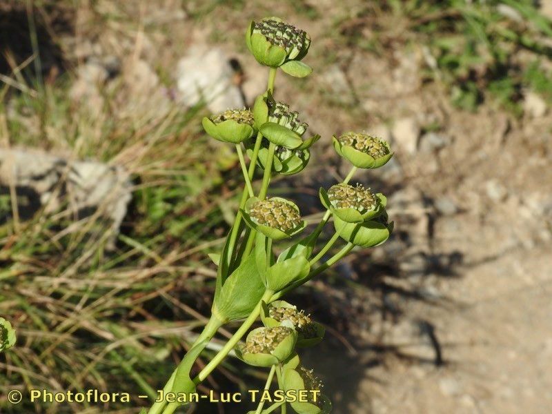
POLYGON ((268 305, 263 303, 261 319, 265 326, 293 326, 297 331, 297 346, 301 348, 314 346, 324 337, 324 326, 314 322, 311 315, 299 311, 297 306, 283 300, 268 305))

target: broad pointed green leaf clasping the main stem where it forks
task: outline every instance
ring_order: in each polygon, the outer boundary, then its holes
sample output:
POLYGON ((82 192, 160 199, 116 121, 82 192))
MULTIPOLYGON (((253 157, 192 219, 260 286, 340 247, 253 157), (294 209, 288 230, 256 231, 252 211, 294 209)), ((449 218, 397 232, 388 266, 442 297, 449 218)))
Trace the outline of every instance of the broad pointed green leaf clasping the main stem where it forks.
POLYGON ((230 322, 247 317, 261 300, 265 289, 254 253, 228 276, 215 296, 213 313, 218 319, 230 322))

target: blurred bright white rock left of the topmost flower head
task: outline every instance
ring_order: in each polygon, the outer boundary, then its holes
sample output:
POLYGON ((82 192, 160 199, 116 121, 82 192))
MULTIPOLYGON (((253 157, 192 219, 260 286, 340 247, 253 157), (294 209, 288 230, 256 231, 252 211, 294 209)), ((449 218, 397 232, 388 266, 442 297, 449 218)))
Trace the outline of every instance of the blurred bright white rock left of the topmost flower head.
POLYGON ((209 110, 221 112, 245 106, 242 93, 233 83, 229 57, 221 48, 193 46, 177 65, 177 88, 186 106, 205 99, 209 110))

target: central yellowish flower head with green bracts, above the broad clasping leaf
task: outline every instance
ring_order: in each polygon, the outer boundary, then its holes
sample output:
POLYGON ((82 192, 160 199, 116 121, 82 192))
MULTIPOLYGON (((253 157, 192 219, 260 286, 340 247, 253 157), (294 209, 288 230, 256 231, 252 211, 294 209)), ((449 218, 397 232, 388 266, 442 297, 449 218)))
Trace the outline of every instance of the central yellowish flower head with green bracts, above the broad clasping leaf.
POLYGON ((242 214, 248 226, 274 240, 297 235, 306 227, 299 214, 299 207, 280 197, 266 200, 251 197, 242 214))

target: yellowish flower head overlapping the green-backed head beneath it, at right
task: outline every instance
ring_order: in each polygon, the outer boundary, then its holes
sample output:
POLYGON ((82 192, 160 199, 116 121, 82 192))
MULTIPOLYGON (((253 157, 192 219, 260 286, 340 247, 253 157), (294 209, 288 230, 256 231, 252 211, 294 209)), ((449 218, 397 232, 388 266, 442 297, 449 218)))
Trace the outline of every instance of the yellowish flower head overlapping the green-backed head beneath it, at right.
POLYGON ((339 219, 348 223, 361 223, 381 213, 386 199, 381 193, 374 194, 362 184, 335 184, 328 191, 320 188, 320 201, 339 219))

